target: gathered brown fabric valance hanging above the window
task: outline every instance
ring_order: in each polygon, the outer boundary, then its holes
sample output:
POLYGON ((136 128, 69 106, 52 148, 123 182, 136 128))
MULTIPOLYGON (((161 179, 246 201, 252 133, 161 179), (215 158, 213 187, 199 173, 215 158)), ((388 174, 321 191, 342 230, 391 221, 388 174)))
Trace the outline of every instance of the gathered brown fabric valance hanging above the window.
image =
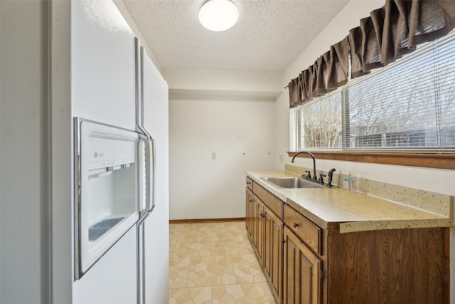
POLYGON ((455 27, 455 0, 386 0, 289 83, 289 106, 308 102, 414 51, 455 27))

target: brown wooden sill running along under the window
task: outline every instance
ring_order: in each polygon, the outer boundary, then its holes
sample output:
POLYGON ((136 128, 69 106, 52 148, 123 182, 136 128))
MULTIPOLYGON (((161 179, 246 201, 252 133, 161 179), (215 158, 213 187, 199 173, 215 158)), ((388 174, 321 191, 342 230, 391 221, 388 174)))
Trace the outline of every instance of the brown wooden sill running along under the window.
MULTIPOLYGON (((455 169, 455 154, 436 152, 346 152, 346 151, 311 151, 316 159, 336 159, 349 162, 370 162, 373 164, 397 164, 400 166, 427 167, 437 169, 455 169)), ((296 152, 287 152, 293 157, 296 152)), ((299 154, 297 157, 309 157, 299 154)))

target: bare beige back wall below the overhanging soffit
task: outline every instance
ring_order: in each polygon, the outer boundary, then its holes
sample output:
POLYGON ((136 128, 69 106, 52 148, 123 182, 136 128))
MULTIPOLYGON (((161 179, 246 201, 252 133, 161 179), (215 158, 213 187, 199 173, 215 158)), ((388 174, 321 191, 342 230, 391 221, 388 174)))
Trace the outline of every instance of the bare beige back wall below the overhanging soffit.
POLYGON ((274 103, 174 98, 169 116, 170 218, 245 217, 245 170, 276 157, 274 103))

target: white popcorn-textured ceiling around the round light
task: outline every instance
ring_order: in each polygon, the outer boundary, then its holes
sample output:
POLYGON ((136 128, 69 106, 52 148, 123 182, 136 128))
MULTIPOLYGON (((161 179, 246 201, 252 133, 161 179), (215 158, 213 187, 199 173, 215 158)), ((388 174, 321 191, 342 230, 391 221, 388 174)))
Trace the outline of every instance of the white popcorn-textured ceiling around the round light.
POLYGON ((200 25, 205 0, 123 2, 161 68, 282 72, 349 0, 232 0, 239 21, 222 32, 200 25))

